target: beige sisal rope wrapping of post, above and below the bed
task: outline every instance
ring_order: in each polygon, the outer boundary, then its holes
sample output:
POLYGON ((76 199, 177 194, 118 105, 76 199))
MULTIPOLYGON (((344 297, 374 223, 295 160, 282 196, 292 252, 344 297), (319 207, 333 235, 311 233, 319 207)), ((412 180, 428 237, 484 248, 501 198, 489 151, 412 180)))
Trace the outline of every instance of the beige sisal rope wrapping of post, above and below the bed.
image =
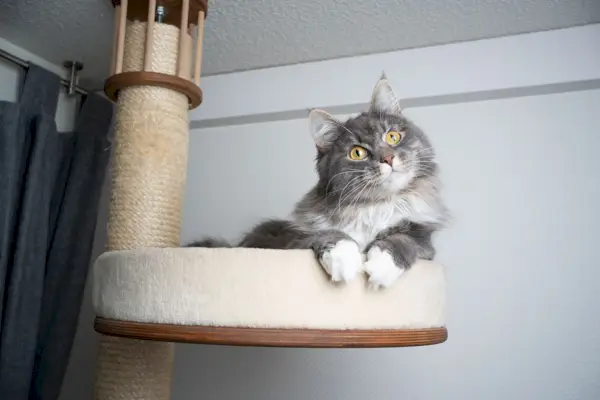
MULTIPOLYGON (((144 69, 146 25, 132 22, 126 28, 124 72, 144 69)), ((179 30, 153 25, 148 70, 174 74, 179 30)), ((115 128, 108 250, 179 246, 187 166, 187 97, 152 86, 122 89, 115 128)), ((173 353, 172 343, 103 336, 95 398, 169 399, 173 353)))

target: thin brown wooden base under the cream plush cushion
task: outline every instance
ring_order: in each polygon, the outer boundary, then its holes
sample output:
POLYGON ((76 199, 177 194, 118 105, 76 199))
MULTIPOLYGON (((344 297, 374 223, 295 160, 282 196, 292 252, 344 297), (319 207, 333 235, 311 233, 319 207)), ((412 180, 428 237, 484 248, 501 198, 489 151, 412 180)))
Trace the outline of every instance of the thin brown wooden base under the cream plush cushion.
POLYGON ((94 329, 129 339, 228 346, 368 348, 409 347, 446 341, 446 328, 427 329, 275 329, 166 325, 96 318, 94 329))

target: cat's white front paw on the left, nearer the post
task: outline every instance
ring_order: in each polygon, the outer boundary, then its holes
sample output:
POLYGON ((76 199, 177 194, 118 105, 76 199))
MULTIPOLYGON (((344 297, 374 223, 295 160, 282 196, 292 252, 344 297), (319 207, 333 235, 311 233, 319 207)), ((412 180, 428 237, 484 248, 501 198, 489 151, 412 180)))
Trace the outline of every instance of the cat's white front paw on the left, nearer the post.
POLYGON ((340 240, 320 259, 321 265, 334 282, 349 282, 362 269, 363 256, 352 240, 340 240))

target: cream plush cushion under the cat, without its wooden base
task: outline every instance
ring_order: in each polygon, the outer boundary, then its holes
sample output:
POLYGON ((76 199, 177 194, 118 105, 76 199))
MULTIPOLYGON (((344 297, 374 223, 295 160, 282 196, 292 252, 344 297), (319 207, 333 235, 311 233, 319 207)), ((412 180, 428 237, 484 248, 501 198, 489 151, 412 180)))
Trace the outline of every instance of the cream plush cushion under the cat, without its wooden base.
POLYGON ((97 316, 230 327, 402 329, 445 324, 440 264, 419 261, 392 287, 333 284, 309 250, 138 249, 102 254, 97 316))

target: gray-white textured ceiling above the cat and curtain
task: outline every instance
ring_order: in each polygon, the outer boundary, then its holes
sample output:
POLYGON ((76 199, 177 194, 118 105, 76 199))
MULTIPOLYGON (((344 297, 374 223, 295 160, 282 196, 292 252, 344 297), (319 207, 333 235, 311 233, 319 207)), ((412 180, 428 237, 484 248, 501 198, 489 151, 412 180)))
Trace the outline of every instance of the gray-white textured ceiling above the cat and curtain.
MULTIPOLYGON (((600 0, 216 0, 204 74, 600 22, 600 0)), ((108 70, 109 0, 0 0, 0 37, 47 60, 108 70)))

